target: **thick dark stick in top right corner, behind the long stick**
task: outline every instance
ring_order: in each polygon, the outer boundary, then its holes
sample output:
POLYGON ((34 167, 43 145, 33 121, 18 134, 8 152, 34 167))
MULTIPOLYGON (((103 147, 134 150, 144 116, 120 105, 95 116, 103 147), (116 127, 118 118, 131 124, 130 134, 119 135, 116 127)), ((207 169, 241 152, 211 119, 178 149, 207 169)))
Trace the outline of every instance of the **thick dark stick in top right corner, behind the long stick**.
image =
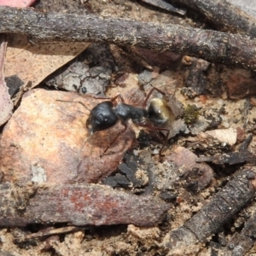
POLYGON ((256 38, 256 19, 225 0, 169 0, 205 16, 218 30, 256 38))

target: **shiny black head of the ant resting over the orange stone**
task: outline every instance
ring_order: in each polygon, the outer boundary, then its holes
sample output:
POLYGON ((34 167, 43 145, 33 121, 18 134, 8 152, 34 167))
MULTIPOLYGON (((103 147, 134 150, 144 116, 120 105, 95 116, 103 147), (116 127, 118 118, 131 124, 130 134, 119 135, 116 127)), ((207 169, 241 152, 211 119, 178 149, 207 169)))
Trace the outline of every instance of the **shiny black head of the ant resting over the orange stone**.
POLYGON ((113 102, 102 102, 91 109, 86 127, 92 134, 96 131, 107 130, 115 125, 118 120, 119 117, 113 111, 113 102))

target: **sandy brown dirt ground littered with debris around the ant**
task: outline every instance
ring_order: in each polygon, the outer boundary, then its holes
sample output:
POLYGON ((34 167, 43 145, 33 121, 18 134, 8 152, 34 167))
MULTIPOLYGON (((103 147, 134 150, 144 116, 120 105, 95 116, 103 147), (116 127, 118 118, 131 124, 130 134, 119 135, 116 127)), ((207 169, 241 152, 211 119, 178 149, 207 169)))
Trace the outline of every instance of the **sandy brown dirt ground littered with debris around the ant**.
MULTIPOLYGON (((195 13, 189 12, 183 17, 141 1, 51 0, 39 1, 35 8, 46 12, 84 15, 94 13, 104 17, 211 28, 195 13)), ((164 90, 168 96, 175 97, 177 102, 173 100, 172 108, 183 109, 181 113, 177 110, 174 117, 176 120, 172 119, 167 127, 171 129, 171 125, 172 129, 164 148, 164 158, 160 159, 158 154, 162 137, 155 136, 155 131, 132 125, 137 143, 125 154, 117 170, 100 181, 116 190, 134 195, 154 195, 155 198, 170 203, 171 209, 161 217, 158 224, 150 227, 137 227, 133 224, 86 226, 67 234, 43 236, 22 242, 18 242, 16 238, 36 234, 49 227, 30 224, 25 228, 4 228, 0 230, 0 255, 256 255, 254 246, 251 246, 247 254, 234 253, 234 245, 231 246, 232 237, 240 234, 247 219, 255 214, 254 199, 239 209, 235 217, 228 218, 218 233, 207 237, 205 242, 198 241, 186 248, 176 247, 173 251, 161 246, 168 233, 182 226, 201 207, 207 205, 212 196, 246 163, 246 160, 234 165, 229 162, 220 163, 216 159, 212 160, 212 156, 239 152, 241 143, 250 134, 253 138, 247 149, 250 155, 254 154, 256 102, 253 92, 247 94, 255 83, 253 75, 245 70, 214 65, 175 53, 156 53, 105 44, 90 44, 89 49, 69 65, 79 61, 88 64, 90 68, 102 67, 102 73, 107 77, 100 80, 97 89, 90 88, 92 85, 88 85, 89 82, 83 85, 91 93, 105 93, 107 96, 121 93, 125 102, 142 106, 144 97, 154 86, 164 90), (144 60, 153 67, 152 70, 142 64, 144 60), (247 84, 246 89, 241 84, 247 84), (215 133, 206 133, 217 130, 226 143, 220 142, 215 133), (236 137, 235 141, 233 135, 236 137), (195 155, 204 155, 208 160, 205 163, 197 162, 195 155), (178 157, 182 160, 177 160, 178 157), (186 158, 189 159, 189 164, 185 161, 186 158), (129 166, 132 170, 130 177, 127 173, 124 175, 124 163, 126 166, 133 163, 132 167, 129 166), (201 170, 204 175, 192 173, 192 170, 201 170)), ((68 86, 65 87, 61 79, 57 78, 69 65, 45 79, 38 87, 48 90, 56 87, 58 90, 67 89, 68 86)), ((55 224, 51 227, 57 229, 67 226, 68 224, 55 224)))

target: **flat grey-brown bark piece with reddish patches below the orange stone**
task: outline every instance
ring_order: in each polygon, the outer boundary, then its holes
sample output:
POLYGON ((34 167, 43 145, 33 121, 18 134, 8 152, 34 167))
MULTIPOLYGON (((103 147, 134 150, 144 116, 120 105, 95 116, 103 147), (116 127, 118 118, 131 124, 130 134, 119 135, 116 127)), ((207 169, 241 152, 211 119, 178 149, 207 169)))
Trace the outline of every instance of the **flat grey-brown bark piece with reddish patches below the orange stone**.
POLYGON ((156 224, 170 205, 98 184, 0 185, 0 226, 156 224), (18 196, 14 196, 18 195, 18 196), (22 208, 20 208, 20 202, 22 208))

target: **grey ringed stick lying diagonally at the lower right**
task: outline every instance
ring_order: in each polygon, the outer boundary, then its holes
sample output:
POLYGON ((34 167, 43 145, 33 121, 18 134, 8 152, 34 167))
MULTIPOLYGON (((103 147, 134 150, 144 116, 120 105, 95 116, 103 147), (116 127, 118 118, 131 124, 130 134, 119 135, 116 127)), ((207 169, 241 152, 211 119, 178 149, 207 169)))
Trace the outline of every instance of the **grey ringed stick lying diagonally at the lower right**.
POLYGON ((256 191, 256 167, 244 169, 221 189, 183 226, 167 234, 162 245, 168 248, 187 247, 217 233, 236 212, 253 199, 256 191))

